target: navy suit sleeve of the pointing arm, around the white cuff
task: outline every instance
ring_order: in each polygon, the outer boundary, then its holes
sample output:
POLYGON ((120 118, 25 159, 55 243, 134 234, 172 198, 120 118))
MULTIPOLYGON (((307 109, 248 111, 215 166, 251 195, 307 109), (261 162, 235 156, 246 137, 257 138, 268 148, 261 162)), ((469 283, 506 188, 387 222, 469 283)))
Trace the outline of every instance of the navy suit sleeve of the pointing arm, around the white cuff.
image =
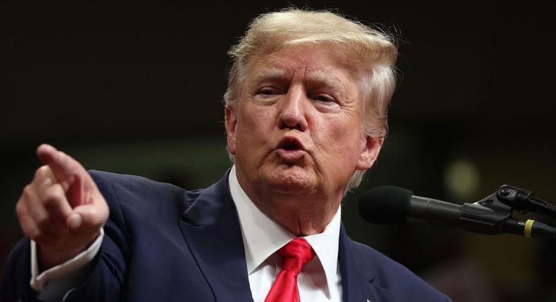
MULTIPOLYGON (((101 249, 91 263, 91 273, 80 286, 68 291, 63 301, 120 301, 130 254, 129 233, 113 185, 99 173, 92 171, 91 176, 108 202, 110 217, 104 225, 101 249)), ((30 266, 30 239, 23 238, 8 256, 0 301, 40 301, 37 291, 30 287, 30 266)))

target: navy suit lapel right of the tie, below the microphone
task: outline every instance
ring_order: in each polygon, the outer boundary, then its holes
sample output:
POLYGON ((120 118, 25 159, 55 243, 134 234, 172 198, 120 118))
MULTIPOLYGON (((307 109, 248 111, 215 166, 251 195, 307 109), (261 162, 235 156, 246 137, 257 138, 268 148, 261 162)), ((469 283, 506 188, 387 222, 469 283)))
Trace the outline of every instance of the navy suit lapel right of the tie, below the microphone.
POLYGON ((343 224, 340 228, 339 261, 342 277, 344 302, 394 302, 396 297, 386 289, 374 285, 374 267, 362 263, 361 257, 353 249, 353 242, 346 234, 343 224))

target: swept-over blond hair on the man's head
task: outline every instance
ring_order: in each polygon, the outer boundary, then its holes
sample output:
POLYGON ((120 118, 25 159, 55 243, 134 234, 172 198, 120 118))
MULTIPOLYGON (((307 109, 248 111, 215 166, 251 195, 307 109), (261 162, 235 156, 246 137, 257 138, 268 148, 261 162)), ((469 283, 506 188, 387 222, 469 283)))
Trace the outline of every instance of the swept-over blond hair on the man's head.
MULTIPOLYGON (((287 8, 255 18, 244 37, 228 51, 232 68, 225 105, 234 107, 239 101, 246 72, 256 58, 281 48, 311 44, 339 46, 354 67, 365 70, 360 79, 362 127, 373 138, 386 136, 388 104, 396 86, 398 52, 393 37, 330 11, 287 8)), ((347 189, 357 187, 363 173, 355 171, 347 189)))

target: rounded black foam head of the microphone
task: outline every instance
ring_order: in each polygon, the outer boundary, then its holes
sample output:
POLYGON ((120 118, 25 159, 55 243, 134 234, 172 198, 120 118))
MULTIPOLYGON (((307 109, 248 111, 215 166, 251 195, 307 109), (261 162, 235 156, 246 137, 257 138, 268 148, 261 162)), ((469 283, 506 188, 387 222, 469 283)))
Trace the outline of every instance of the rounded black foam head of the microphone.
POLYGON ((410 211, 413 192, 383 185, 365 192, 359 199, 359 214, 369 223, 403 224, 410 211))

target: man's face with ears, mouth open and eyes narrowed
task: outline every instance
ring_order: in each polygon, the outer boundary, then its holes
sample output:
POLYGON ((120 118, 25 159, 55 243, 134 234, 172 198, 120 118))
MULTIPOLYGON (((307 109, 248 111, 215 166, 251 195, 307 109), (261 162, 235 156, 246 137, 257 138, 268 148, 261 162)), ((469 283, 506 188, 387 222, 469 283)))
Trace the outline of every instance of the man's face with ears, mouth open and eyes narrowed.
POLYGON ((293 46, 255 59, 239 103, 226 110, 240 183, 285 195, 343 196, 381 140, 362 131, 360 70, 341 48, 293 46))

